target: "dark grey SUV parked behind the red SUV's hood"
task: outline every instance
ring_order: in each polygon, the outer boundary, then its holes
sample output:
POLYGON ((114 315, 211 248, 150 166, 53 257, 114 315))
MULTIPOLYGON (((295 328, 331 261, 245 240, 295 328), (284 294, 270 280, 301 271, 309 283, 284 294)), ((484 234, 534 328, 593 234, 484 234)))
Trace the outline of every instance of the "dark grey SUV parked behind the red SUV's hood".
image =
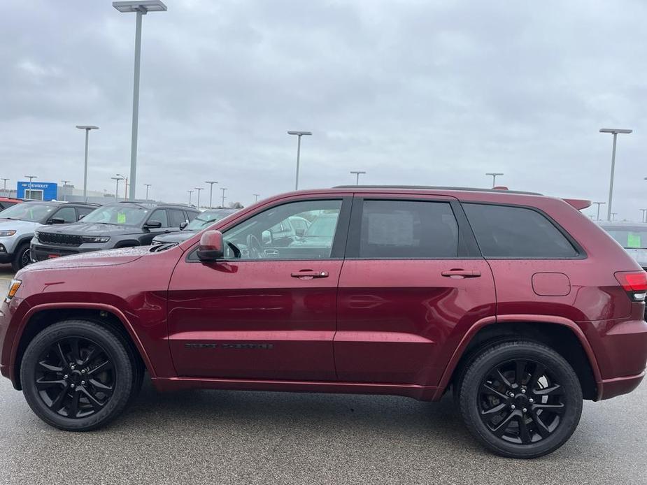
POLYGON ((31 259, 150 245, 159 234, 180 231, 200 212, 188 205, 120 202, 90 212, 76 224, 36 231, 31 259))

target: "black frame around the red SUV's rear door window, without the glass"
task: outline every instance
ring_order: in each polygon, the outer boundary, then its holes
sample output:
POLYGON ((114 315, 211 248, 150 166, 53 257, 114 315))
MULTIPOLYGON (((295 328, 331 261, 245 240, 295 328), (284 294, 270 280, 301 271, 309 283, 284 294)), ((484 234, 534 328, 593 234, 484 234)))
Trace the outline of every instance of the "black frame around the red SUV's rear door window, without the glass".
POLYGON ((350 214, 350 229, 348 231, 348 240, 346 243, 346 259, 359 261, 385 261, 385 260, 408 260, 408 261, 457 261, 460 259, 483 259, 481 251, 476 245, 476 238, 467 222, 467 216, 460 206, 460 202, 455 198, 439 197, 411 197, 407 194, 387 195, 367 194, 367 196, 355 196, 353 198, 353 210, 350 214), (362 215, 364 212, 364 201, 399 201, 399 202, 427 202, 427 203, 445 203, 448 204, 453 212, 458 228, 458 250, 455 257, 428 256, 428 257, 361 257, 360 256, 360 239, 362 231, 362 215))

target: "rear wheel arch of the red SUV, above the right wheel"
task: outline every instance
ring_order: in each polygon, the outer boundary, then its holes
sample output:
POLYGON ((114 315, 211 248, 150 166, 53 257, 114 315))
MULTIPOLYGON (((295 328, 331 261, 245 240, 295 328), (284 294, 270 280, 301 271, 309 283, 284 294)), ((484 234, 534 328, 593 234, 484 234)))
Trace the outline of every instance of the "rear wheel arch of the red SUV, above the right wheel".
POLYGON ((585 399, 599 400, 602 377, 595 354, 581 328, 564 317, 545 315, 504 315, 478 321, 455 349, 436 390, 441 398, 450 384, 460 377, 465 365, 483 347, 495 342, 532 340, 555 349, 574 368, 585 399))

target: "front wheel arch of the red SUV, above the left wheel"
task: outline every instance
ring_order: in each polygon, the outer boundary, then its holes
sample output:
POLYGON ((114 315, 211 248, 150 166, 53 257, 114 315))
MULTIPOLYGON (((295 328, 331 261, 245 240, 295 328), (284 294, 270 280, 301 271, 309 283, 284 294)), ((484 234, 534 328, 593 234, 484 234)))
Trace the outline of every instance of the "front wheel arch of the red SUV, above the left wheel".
POLYGON ((22 355, 29 342, 44 328, 66 319, 87 319, 108 326, 111 330, 119 333, 131 348, 134 356, 141 359, 141 363, 148 370, 150 376, 156 377, 155 368, 141 344, 141 340, 118 308, 101 303, 53 303, 32 307, 25 315, 20 331, 15 335, 12 346, 13 355, 10 361, 10 379, 15 389, 21 389, 20 365, 22 364, 22 355))

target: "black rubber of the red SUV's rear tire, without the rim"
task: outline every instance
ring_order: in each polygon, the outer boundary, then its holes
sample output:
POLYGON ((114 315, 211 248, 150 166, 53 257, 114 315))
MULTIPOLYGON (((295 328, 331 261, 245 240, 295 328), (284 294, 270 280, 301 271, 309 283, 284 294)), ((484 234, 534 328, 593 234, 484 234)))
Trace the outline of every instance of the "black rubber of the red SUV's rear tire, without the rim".
POLYGON ((558 449, 577 428, 582 412, 582 390, 571 365, 549 347, 534 342, 507 342, 485 350, 469 365, 458 392, 460 412, 470 432, 485 447, 496 454, 510 458, 536 458, 558 449), (478 389, 485 374, 498 364, 511 359, 538 361, 555 375, 563 387, 567 411, 549 437, 532 444, 514 444, 496 437, 481 421, 478 410, 478 389))

